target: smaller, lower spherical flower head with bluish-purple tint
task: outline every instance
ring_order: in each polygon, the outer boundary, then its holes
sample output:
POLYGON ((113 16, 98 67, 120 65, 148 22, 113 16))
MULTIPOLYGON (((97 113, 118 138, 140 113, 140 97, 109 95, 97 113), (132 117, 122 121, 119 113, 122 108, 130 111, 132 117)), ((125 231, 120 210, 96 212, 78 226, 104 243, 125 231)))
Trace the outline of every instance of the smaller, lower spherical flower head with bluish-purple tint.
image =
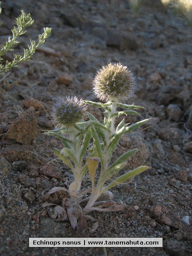
POLYGON ((52 107, 51 119, 57 128, 74 126, 80 122, 87 111, 86 104, 76 96, 57 99, 52 107))

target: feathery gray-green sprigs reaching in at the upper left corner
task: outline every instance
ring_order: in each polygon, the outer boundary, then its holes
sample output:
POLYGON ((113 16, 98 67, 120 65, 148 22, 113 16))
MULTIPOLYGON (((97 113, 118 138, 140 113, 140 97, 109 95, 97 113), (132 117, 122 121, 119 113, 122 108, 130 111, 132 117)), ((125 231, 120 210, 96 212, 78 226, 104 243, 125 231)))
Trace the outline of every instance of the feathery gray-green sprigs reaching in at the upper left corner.
MULTIPOLYGON (((1 8, 0 8, 1 13, 1 8)), ((31 56, 35 53, 36 49, 44 44, 45 40, 51 35, 51 28, 44 28, 44 33, 38 36, 38 43, 36 44, 35 41, 30 40, 30 44, 28 45, 28 49, 24 49, 23 55, 15 54, 13 61, 6 61, 5 64, 2 63, 3 55, 6 52, 13 51, 14 47, 19 44, 18 38, 21 35, 26 33, 26 28, 31 26, 34 23, 30 13, 26 14, 23 10, 21 10, 21 15, 18 16, 16 19, 16 26, 11 30, 12 37, 8 38, 8 41, 1 45, 0 49, 0 76, 3 76, 5 72, 10 70, 13 67, 18 67, 20 62, 29 61, 31 56)))

